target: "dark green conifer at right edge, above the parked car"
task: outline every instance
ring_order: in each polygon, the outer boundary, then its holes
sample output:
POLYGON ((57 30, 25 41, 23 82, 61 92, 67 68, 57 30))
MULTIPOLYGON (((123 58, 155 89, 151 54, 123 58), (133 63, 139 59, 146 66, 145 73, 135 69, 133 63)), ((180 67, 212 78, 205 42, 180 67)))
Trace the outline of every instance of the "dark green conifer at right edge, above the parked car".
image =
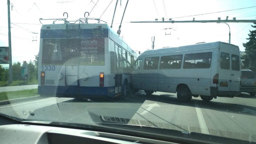
MULTIPOLYGON (((251 25, 251 27, 256 28, 256 23, 254 23, 254 26, 251 25)), ((244 59, 243 68, 256 71, 256 30, 250 31, 248 36, 249 38, 246 38, 246 39, 249 41, 246 43, 243 43, 243 46, 245 47, 245 53, 246 53, 244 56, 241 57, 241 59, 244 59)))

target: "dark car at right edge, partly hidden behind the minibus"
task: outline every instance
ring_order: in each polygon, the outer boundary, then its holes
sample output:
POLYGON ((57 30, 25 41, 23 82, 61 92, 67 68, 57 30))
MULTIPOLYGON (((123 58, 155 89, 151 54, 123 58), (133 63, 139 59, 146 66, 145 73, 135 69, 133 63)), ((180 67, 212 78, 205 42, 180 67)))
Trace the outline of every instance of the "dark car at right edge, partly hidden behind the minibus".
POLYGON ((242 70, 241 92, 247 92, 251 96, 256 95, 256 75, 249 69, 242 70))

